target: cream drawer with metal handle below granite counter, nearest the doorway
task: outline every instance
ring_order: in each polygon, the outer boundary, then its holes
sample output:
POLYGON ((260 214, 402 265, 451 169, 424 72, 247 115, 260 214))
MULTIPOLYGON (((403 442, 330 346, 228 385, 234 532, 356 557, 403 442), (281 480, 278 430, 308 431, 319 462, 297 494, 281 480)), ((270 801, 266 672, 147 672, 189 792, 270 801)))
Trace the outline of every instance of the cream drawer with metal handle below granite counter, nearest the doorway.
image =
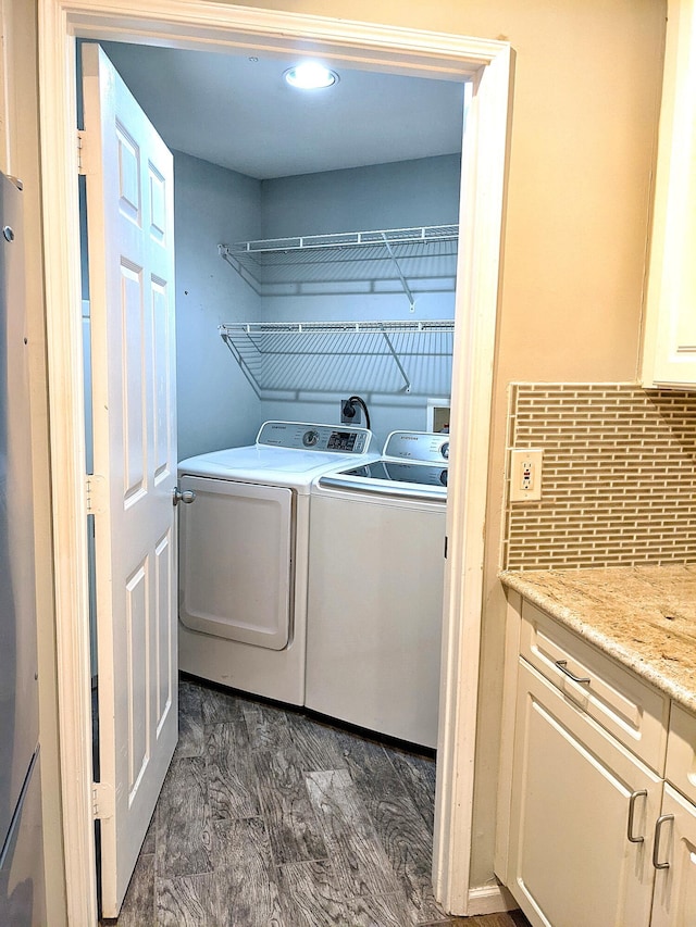
POLYGON ((664 696, 526 600, 520 653, 617 740, 662 773, 669 713, 664 696))

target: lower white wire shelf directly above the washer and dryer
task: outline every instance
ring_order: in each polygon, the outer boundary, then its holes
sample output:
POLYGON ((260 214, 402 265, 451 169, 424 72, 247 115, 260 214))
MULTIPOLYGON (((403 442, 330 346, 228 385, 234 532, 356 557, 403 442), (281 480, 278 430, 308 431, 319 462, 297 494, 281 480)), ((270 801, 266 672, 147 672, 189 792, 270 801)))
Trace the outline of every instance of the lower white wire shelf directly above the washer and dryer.
POLYGON ((452 320, 237 322, 220 335, 260 398, 362 391, 447 396, 452 320))

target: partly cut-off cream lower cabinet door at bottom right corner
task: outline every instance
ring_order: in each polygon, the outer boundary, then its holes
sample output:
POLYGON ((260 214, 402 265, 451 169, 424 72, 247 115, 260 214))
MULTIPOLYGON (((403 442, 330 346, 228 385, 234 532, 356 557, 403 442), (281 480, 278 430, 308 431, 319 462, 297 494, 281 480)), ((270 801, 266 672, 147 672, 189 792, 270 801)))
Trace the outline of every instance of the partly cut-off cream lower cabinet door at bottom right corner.
POLYGON ((664 786, 663 824, 659 828, 659 863, 655 876, 651 927, 693 927, 696 924, 696 805, 664 786))

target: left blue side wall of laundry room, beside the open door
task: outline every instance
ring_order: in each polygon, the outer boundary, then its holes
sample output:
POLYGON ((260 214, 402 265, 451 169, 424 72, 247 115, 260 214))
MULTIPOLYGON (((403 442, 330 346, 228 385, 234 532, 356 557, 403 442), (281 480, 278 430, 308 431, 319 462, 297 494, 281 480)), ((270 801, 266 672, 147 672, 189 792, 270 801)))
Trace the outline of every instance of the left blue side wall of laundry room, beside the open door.
POLYGON ((261 234, 258 180, 174 153, 176 375, 179 460, 252 443, 261 409, 217 326, 256 320, 260 298, 220 256, 220 243, 261 234))

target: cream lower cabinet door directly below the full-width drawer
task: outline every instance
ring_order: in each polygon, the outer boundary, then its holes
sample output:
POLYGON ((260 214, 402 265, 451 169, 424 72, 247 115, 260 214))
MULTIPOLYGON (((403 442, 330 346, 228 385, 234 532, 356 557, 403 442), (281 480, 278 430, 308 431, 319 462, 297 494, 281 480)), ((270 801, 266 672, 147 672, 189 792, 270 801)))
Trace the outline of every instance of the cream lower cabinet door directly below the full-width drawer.
POLYGON ((508 888, 535 927, 649 923, 660 798, 654 773, 520 661, 508 888))

